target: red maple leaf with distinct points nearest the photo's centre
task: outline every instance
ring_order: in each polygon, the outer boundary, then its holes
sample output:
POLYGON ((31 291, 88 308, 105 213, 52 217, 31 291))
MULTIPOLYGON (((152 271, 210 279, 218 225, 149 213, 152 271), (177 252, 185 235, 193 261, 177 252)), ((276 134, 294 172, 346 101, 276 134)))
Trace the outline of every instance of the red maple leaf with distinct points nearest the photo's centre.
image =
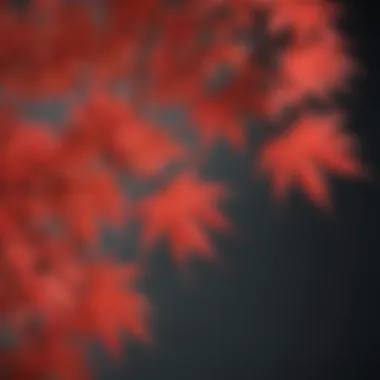
POLYGON ((193 173, 179 175, 140 205, 143 247, 151 248, 160 236, 166 236, 178 266, 186 264, 192 254, 215 259, 203 228, 229 229, 229 223, 217 209, 217 202, 225 195, 220 184, 202 182, 193 173))

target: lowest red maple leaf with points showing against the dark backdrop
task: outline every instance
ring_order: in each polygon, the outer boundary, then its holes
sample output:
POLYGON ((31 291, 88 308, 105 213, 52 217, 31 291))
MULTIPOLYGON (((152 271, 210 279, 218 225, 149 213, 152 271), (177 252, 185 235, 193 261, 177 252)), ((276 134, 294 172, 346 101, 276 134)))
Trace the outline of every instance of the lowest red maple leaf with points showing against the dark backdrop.
POLYGON ((78 310, 78 326, 99 336, 112 354, 120 350, 122 333, 149 340, 146 299, 132 289, 139 271, 130 265, 109 262, 86 268, 88 283, 78 310))

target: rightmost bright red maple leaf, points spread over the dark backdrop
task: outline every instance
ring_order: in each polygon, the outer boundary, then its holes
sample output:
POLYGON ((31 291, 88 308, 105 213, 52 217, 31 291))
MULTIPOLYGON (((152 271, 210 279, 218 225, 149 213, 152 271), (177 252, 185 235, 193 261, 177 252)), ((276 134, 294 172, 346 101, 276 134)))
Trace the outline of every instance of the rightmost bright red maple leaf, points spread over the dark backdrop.
POLYGON ((324 172, 360 177, 355 141, 339 128, 340 115, 305 115, 282 137, 262 148, 260 169, 270 174, 274 192, 282 197, 297 184, 319 206, 329 204, 324 172))

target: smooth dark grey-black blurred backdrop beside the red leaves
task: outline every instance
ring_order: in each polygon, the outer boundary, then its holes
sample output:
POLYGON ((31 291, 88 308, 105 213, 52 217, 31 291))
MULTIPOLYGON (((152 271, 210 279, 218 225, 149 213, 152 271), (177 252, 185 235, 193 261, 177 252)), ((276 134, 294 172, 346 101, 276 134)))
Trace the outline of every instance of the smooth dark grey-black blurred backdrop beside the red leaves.
POLYGON ((199 264, 187 283, 158 247, 143 284, 155 340, 116 365, 96 352, 99 379, 380 378, 379 17, 368 1, 344 3, 366 72, 345 107, 374 182, 332 181, 332 216, 297 194, 279 206, 248 161, 220 147, 205 170, 235 192, 226 211, 238 237, 215 237, 230 270, 199 264))

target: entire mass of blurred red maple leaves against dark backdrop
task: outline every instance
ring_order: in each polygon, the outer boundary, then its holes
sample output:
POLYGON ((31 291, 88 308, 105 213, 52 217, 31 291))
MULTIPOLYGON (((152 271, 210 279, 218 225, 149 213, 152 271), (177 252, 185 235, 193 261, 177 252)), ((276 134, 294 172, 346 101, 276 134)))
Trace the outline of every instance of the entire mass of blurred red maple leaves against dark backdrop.
POLYGON ((263 124, 252 166, 277 197, 296 186, 330 206, 327 174, 364 174, 336 101, 358 70, 340 15, 322 0, 0 1, 6 379, 86 379, 94 339, 112 354, 121 334, 149 341, 145 254, 164 238, 179 268, 215 260, 206 229, 230 230, 226 188, 194 167, 220 138, 249 151, 249 126, 263 124), (28 117, 36 99, 64 104, 64 120, 28 117), (183 109, 197 147, 152 107, 183 109), (124 186, 162 178, 138 199, 124 186), (131 218, 142 222, 143 261, 120 261, 101 242, 131 218))

